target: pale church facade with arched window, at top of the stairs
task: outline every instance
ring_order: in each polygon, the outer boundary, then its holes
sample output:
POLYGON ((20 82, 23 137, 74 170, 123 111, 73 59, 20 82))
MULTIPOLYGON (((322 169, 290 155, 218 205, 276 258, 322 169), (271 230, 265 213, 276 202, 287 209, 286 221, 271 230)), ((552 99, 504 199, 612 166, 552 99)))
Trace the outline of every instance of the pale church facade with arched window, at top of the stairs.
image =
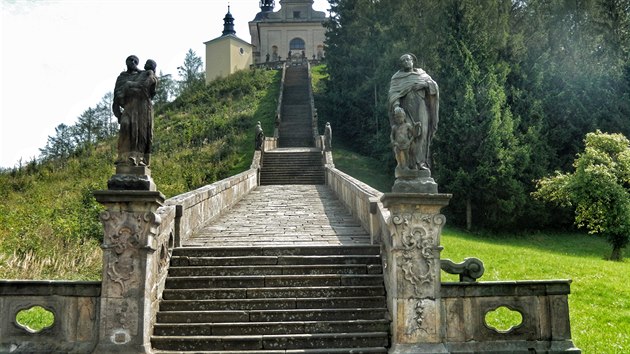
POLYGON ((249 22, 254 63, 285 60, 289 54, 308 59, 324 57, 326 14, 313 9, 313 0, 261 0, 260 12, 249 22))

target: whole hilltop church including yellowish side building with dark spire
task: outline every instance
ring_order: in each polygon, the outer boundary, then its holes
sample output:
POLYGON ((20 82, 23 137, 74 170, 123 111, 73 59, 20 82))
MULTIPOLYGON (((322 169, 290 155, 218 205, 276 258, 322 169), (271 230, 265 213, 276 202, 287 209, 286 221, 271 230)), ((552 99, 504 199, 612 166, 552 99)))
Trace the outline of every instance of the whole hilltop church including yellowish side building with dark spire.
POLYGON ((249 22, 251 43, 236 36, 234 17, 223 18, 220 37, 205 42, 206 82, 226 77, 252 64, 278 62, 288 58, 321 60, 324 57, 326 14, 313 9, 313 0, 260 0, 260 12, 249 22))

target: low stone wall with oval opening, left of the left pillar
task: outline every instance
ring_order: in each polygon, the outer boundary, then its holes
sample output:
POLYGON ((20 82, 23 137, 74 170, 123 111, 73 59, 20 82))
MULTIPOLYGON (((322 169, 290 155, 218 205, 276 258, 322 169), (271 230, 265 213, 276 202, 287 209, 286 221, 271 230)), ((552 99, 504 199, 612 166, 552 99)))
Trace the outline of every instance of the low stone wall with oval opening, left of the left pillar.
POLYGON ((90 353, 98 337, 100 282, 0 280, 0 353, 90 353), (34 333, 16 321, 39 306, 50 327, 34 333))

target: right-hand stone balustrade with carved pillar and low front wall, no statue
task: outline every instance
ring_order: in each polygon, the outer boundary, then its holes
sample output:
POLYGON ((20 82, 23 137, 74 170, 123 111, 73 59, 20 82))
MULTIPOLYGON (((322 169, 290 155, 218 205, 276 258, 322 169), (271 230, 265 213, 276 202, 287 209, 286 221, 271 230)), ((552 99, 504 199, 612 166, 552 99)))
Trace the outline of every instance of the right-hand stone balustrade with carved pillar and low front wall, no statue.
POLYGON ((389 353, 580 353, 571 341, 570 281, 442 283, 440 210, 450 196, 383 194, 325 161, 327 185, 381 244, 389 353), (493 328, 487 316, 499 308, 521 322, 493 328))

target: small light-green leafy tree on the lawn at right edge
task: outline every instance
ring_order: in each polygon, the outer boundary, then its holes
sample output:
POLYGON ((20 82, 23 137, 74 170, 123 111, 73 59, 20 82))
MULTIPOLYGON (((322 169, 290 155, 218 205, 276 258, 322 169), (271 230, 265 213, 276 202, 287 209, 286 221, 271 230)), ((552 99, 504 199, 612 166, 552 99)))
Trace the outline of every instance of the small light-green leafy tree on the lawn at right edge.
POLYGON ((537 182, 536 198, 575 208, 575 223, 602 235, 612 246, 610 259, 621 260, 630 241, 630 141, 621 134, 586 135, 575 172, 537 182))

